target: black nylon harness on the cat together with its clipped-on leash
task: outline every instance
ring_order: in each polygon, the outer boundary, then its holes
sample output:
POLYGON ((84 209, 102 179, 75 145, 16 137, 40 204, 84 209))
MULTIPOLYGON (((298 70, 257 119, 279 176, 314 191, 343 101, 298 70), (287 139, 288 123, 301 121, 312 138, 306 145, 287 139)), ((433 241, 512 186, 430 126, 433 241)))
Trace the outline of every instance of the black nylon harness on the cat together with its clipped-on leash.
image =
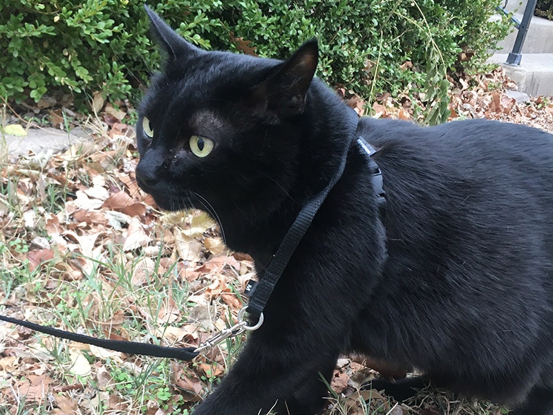
MULTIPOLYGON (((359 149, 366 155, 367 164, 369 171, 371 173, 373 181, 373 189, 377 196, 377 203, 379 207, 380 216, 382 221, 384 221, 384 214, 386 210, 386 192, 384 192, 384 185, 382 180, 382 172, 380 171, 377 163, 371 158, 373 154, 377 151, 373 146, 368 144, 364 138, 357 136, 357 122, 359 118, 357 113, 351 110, 348 111, 348 126, 350 126, 350 131, 348 131, 348 142, 344 146, 342 154, 340 154, 341 163, 335 172, 335 175, 332 177, 328 185, 321 190, 315 196, 312 196, 308 201, 303 205, 301 211, 299 212, 297 218, 295 219, 290 229, 285 234, 277 252, 274 254, 274 257, 270 261, 268 267, 265 270, 265 275, 256 286, 255 291, 252 293, 249 304, 247 305, 246 311, 251 316, 250 320, 257 321, 256 326, 260 326, 263 319, 263 309, 267 304, 269 297, 279 282, 279 278, 284 272, 288 261, 294 254, 299 242, 303 238, 303 235, 307 232, 312 219, 317 214, 319 208, 324 203, 326 196, 332 190, 332 187, 335 186, 339 178, 341 178, 342 173, 346 167, 346 159, 348 151, 353 145, 353 142, 357 142, 359 149)), ((18 324, 19 326, 27 327, 41 333, 46 333, 48 335, 53 335, 57 338, 63 338, 66 340, 71 340, 74 342, 80 342, 85 344, 93 344, 97 347, 102 347, 104 349, 110 349, 114 351, 120 351, 122 353, 129 354, 139 354, 144 356, 155 356, 160 358, 176 358, 179 360, 192 360, 198 356, 198 349, 205 349, 204 347, 165 347, 159 346, 157 344, 148 344, 140 342, 127 342, 122 340, 107 340, 93 338, 89 335, 82 335, 77 333, 71 333, 70 331, 64 331, 60 329, 54 329, 53 327, 42 326, 40 324, 27 322, 25 320, 19 320, 12 317, 7 317, 5 315, 0 315, 0 320, 5 322, 10 322, 13 324, 18 324)), ((241 333, 245 324, 241 326, 241 322, 233 326, 232 329, 227 329, 223 338, 227 338, 232 335, 241 333)), ((246 327, 246 329, 248 329, 246 327)), ((255 328, 253 328, 255 329, 255 328)), ((221 337, 221 335, 219 336, 221 337)), ((207 344, 210 346, 209 342, 207 344)))

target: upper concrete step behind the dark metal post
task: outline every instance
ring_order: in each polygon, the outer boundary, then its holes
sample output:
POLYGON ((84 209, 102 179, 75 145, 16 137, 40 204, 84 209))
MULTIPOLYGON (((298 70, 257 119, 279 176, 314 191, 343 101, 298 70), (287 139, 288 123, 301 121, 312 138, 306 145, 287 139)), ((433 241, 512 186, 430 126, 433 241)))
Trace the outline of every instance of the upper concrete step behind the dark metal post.
MULTIPOLYGON (((521 21, 523 15, 515 15, 515 17, 521 21)), ((517 33, 518 30, 515 29, 502 42, 499 42, 498 48, 503 48, 501 49, 503 53, 513 50, 517 33)), ((532 17, 522 53, 553 53, 553 21, 532 17)))

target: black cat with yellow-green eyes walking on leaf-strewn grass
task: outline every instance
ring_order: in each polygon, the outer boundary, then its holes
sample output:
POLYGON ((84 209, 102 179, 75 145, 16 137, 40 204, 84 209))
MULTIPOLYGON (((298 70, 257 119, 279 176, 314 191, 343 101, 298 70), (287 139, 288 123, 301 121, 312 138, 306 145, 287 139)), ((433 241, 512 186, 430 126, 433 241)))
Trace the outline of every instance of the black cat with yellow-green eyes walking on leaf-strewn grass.
POLYGON ((140 106, 136 177, 160 207, 207 210, 263 278, 347 156, 263 326, 196 415, 319 413, 321 377, 347 351, 516 415, 553 414, 552 135, 488 120, 352 124, 313 77, 317 42, 285 62, 205 52, 148 12, 167 62, 140 106), (378 149, 384 209, 354 135, 378 149))

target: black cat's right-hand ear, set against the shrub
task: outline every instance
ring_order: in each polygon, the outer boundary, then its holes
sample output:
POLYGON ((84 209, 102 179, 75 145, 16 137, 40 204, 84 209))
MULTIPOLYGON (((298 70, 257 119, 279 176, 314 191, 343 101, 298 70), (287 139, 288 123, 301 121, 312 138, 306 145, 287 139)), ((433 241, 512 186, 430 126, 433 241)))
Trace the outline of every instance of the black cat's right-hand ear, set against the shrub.
POLYGON ((302 113, 318 62, 317 39, 308 40, 269 80, 269 107, 277 109, 283 116, 302 113))

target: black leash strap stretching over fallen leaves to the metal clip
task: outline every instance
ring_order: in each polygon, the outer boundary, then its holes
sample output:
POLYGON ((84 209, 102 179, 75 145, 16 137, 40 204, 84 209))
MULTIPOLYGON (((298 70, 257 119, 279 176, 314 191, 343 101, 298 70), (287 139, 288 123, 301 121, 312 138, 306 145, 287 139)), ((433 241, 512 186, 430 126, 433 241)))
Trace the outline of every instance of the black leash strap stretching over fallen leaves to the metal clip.
POLYGON ((6 317, 5 315, 0 315, 0 320, 8 323, 19 324, 19 326, 24 326, 31 330, 53 335, 57 338, 73 340, 73 342, 93 344, 93 346, 103 347, 104 349, 114 351, 121 351, 122 353, 155 356, 157 358, 175 358, 180 360, 192 360, 198 356, 198 352, 194 351, 194 347, 165 347, 157 346, 156 344, 126 342, 124 340, 98 339, 89 335, 71 333, 70 331, 54 329, 53 327, 41 326, 40 324, 26 322, 25 320, 6 317))

